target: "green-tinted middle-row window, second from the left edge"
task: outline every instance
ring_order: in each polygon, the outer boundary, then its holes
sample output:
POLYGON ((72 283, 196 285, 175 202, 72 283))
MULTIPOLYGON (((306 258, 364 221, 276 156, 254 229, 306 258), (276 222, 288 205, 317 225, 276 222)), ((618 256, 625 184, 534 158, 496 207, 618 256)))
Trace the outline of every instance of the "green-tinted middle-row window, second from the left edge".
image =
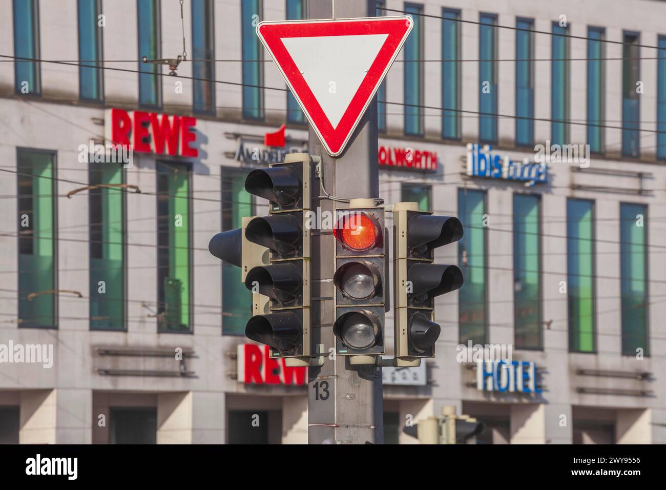
MULTIPOLYGON (((123 167, 89 163, 90 185, 123 183, 123 167)), ((90 219, 90 328, 125 329, 125 199, 118 187, 88 193, 90 219)))

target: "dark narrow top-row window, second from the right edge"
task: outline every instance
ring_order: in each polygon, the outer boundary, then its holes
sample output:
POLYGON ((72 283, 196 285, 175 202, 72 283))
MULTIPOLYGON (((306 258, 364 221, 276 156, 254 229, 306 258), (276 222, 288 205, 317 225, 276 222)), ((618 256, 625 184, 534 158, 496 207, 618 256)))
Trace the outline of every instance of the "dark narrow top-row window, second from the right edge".
POLYGON ((638 100, 641 80, 641 37, 638 33, 624 33, 622 45, 622 155, 641 156, 639 121, 641 116, 638 100))

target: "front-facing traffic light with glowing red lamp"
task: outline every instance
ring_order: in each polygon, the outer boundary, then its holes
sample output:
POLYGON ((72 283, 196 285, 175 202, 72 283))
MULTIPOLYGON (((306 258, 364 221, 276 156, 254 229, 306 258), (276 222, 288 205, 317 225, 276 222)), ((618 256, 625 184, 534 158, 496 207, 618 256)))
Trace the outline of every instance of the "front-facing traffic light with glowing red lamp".
POLYGON ((384 314, 388 310, 384 254, 384 208, 374 199, 352 199, 338 209, 336 238, 336 353, 352 364, 374 364, 384 353, 384 314))

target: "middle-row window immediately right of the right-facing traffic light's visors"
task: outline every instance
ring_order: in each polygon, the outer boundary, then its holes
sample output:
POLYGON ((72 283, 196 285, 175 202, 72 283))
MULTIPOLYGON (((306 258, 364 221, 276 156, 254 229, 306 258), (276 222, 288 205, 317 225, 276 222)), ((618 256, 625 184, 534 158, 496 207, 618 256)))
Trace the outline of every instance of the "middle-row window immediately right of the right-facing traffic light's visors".
POLYGON ((460 343, 486 344, 486 193, 458 189, 458 216, 465 235, 458 242, 458 264, 465 277, 460 288, 460 343))

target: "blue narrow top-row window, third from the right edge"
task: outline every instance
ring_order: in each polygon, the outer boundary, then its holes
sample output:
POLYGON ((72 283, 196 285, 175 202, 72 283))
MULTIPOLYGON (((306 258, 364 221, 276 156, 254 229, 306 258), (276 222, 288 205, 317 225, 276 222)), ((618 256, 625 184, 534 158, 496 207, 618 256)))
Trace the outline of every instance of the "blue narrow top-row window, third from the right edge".
POLYGON ((603 153, 603 125, 605 103, 605 31, 600 27, 587 29, 587 144, 590 151, 603 153), (596 126, 595 126, 596 125, 596 126))

